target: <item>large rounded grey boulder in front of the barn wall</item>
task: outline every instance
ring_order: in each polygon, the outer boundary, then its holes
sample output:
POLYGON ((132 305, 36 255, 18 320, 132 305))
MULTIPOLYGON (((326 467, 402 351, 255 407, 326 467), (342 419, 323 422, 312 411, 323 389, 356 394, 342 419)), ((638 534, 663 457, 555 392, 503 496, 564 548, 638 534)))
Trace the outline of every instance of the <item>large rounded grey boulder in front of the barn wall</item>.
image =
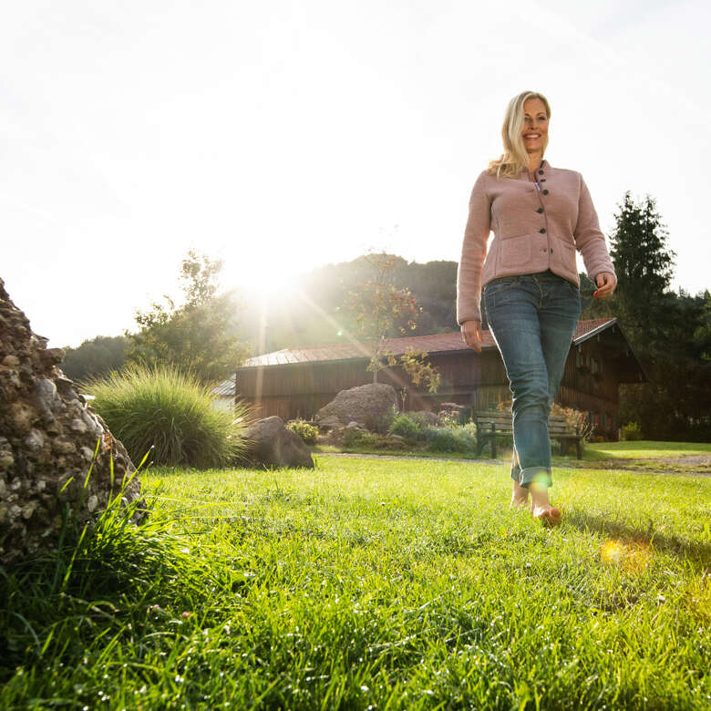
POLYGON ((316 413, 316 420, 320 426, 329 427, 346 427, 349 422, 360 422, 377 432, 384 428, 384 419, 391 407, 397 408, 395 388, 386 383, 370 383, 341 390, 316 413))

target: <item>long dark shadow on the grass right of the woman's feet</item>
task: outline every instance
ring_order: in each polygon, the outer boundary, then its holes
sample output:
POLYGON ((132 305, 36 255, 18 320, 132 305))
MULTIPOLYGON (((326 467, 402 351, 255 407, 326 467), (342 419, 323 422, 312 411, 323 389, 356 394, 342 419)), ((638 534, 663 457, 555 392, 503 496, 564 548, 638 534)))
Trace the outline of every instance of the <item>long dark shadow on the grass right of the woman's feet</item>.
POLYGON ((564 521, 580 531, 598 533, 606 539, 634 541, 649 545, 656 551, 662 551, 680 560, 690 562, 696 570, 706 569, 711 561, 711 544, 688 541, 664 531, 658 531, 653 520, 650 520, 647 527, 643 528, 625 520, 610 520, 601 515, 572 509, 565 512, 564 521))

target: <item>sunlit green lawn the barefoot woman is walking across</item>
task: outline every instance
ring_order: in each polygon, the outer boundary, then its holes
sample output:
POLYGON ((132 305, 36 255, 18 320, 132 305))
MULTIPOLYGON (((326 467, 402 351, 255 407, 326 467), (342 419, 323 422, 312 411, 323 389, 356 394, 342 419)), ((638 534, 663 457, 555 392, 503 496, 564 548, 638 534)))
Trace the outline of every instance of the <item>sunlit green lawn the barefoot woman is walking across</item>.
POLYGON ((0 574, 0 707, 708 708, 711 478, 554 476, 547 530, 500 464, 152 471, 0 574))

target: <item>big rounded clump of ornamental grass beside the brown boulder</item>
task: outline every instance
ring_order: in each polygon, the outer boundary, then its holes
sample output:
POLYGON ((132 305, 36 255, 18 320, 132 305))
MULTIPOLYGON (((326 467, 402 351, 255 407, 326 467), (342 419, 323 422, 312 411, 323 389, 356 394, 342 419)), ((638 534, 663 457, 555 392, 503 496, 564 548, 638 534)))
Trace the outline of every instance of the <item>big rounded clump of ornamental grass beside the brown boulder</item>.
POLYGON ((177 367, 129 366, 86 387, 134 462, 151 447, 155 464, 201 469, 226 466, 244 453, 246 406, 216 409, 210 388, 177 367))

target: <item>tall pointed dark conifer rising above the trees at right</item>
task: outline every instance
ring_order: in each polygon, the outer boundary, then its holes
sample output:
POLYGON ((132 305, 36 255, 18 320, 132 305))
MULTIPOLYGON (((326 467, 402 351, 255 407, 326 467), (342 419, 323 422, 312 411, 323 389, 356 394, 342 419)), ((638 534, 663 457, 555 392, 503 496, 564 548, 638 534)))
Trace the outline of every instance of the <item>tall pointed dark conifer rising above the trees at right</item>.
POLYGON ((637 203, 627 191, 618 207, 610 238, 618 282, 613 307, 637 345, 649 346, 661 340, 659 310, 676 255, 668 249, 668 234, 652 197, 637 203))

